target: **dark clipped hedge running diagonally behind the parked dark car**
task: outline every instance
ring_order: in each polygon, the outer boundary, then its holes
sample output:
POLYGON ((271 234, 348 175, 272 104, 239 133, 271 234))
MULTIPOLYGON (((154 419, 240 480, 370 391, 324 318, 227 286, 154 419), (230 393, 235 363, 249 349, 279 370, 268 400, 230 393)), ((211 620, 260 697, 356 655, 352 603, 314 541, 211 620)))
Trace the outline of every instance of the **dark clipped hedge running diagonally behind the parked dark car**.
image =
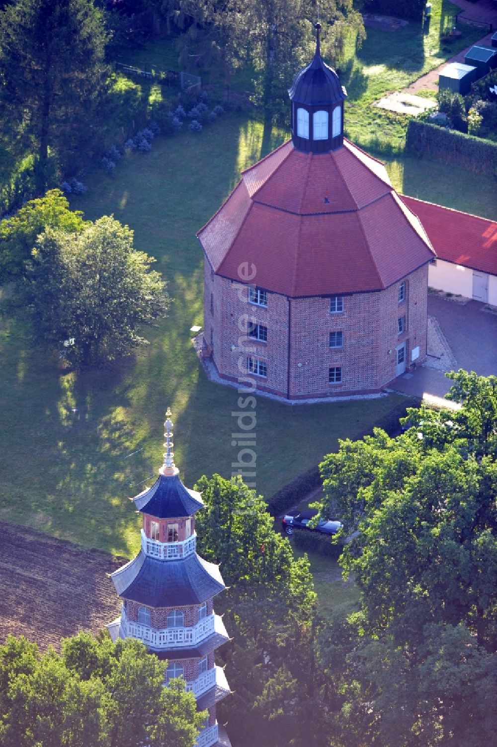
MULTIPOLYGON (((416 406, 419 406, 419 400, 404 400, 384 415, 383 418, 380 418, 374 427, 382 428, 389 434, 389 436, 397 436, 398 433, 401 433, 399 420, 405 418, 407 407, 416 406)), ((370 436, 371 433, 373 433, 373 429, 369 428, 364 431, 362 436, 359 436, 359 438, 370 436)), ((290 506, 294 506, 295 503, 302 500, 302 498, 312 490, 319 487, 321 487, 321 474, 318 465, 316 465, 312 469, 309 469, 308 472, 300 474, 295 478, 295 480, 292 480, 291 483, 288 483, 288 485, 285 485, 282 489, 274 493, 274 495, 271 495, 271 498, 268 499, 268 509, 270 514, 272 516, 280 515, 289 509, 290 506)))

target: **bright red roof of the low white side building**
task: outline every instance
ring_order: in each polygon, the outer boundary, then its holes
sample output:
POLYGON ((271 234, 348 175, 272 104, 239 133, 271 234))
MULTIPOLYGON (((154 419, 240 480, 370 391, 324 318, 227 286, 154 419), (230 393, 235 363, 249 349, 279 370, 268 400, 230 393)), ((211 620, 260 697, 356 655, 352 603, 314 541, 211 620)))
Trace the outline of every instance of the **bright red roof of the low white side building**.
POLYGON ((497 223, 432 202, 401 196, 421 220, 437 257, 497 275, 497 223))

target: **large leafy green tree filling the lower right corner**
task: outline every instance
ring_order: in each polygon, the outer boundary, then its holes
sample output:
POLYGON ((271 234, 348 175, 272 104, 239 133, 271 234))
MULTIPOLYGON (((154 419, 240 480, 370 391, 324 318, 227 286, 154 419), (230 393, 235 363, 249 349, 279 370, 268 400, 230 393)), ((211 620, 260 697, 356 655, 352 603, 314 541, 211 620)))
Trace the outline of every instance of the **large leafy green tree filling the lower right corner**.
POLYGON ((496 377, 448 376, 460 410, 410 409, 402 436, 321 465, 324 510, 359 528, 342 563, 361 610, 321 641, 344 745, 476 747, 497 728, 496 377))

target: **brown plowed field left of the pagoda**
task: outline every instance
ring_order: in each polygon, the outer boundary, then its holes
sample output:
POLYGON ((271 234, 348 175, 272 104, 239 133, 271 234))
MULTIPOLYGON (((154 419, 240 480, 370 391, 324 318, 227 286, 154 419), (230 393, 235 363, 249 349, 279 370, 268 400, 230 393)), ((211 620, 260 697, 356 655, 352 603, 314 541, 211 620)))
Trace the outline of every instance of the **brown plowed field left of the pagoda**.
POLYGON ((106 574, 124 559, 0 522, 0 642, 8 633, 45 649, 119 614, 106 574))

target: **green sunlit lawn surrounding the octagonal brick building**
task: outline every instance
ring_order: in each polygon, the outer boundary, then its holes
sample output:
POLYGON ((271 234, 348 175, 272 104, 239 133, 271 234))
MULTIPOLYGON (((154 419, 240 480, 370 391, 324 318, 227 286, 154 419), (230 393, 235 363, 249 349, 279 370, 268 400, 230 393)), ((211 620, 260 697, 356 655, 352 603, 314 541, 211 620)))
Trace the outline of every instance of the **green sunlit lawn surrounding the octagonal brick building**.
MULTIPOLYGON (((61 373, 58 360, 33 347, 21 326, 4 321, 1 518, 131 554, 138 518, 126 497, 140 492, 143 480, 149 484, 161 464, 167 405, 187 485, 203 473, 231 473, 238 394, 207 381, 190 342, 191 326, 203 318, 203 255, 195 232, 241 168, 282 137, 229 115, 201 134, 158 138, 151 153, 123 159, 112 177, 98 171, 87 179, 87 194, 72 207, 91 219, 114 213, 132 226, 135 246, 157 258, 174 301, 136 359, 103 371, 61 373)), ((333 450, 339 436, 358 436, 396 403, 391 396, 290 407, 259 397, 258 489, 271 495, 333 450)))

